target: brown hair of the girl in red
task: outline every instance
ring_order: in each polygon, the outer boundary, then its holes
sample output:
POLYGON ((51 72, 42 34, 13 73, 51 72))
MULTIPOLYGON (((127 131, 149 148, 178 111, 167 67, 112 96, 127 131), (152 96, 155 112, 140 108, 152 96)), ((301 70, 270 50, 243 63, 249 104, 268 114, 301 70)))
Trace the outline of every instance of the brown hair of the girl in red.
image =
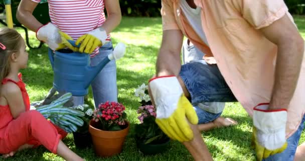
MULTIPOLYGON (((0 47, 0 81, 8 76, 11 70, 11 55, 14 52, 19 54, 22 41, 22 36, 15 29, 0 28, 0 43, 3 44, 0 47)), ((1 86, 0 82, 0 89, 1 86)))

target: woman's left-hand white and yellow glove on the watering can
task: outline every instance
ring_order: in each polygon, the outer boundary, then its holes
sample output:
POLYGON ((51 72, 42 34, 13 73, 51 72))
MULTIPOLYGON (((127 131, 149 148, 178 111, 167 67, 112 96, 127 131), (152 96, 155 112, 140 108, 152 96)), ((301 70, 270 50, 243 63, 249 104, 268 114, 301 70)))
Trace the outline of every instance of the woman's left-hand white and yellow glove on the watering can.
POLYGON ((78 48, 73 47, 67 40, 73 40, 68 34, 61 32, 52 23, 48 23, 40 27, 36 31, 36 37, 38 40, 43 41, 49 45, 52 50, 59 50, 68 47, 73 51, 77 51, 78 48))

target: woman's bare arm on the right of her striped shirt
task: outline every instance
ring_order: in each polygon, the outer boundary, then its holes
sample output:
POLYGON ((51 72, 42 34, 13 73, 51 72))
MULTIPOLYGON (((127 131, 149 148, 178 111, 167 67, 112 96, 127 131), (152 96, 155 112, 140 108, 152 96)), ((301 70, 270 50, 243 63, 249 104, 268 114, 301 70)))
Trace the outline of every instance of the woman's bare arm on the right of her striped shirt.
POLYGON ((122 14, 118 0, 106 0, 105 8, 107 11, 107 19, 102 27, 106 33, 111 33, 121 22, 122 14))

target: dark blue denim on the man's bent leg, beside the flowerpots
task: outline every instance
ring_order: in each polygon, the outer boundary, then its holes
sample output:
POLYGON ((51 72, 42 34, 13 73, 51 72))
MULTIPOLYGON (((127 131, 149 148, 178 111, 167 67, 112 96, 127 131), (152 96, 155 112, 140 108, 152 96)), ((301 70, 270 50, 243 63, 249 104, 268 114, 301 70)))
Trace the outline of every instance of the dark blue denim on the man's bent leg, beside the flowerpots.
POLYGON ((190 101, 197 113, 199 124, 215 120, 223 110, 219 113, 211 113, 201 108, 199 104, 236 101, 216 64, 207 64, 205 60, 191 61, 181 66, 179 75, 191 95, 190 101))

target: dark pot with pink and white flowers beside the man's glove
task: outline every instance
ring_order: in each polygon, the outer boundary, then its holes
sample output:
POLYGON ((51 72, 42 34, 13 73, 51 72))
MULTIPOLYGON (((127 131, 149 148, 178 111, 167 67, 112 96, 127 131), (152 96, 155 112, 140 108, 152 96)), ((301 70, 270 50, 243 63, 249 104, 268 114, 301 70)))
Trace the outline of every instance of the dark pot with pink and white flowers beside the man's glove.
POLYGON ((156 109, 151 105, 147 86, 141 85, 135 90, 135 95, 141 101, 137 113, 140 124, 135 125, 136 145, 143 154, 164 152, 170 143, 170 138, 159 128, 156 120, 156 109), (148 96, 148 97, 147 97, 148 96))

